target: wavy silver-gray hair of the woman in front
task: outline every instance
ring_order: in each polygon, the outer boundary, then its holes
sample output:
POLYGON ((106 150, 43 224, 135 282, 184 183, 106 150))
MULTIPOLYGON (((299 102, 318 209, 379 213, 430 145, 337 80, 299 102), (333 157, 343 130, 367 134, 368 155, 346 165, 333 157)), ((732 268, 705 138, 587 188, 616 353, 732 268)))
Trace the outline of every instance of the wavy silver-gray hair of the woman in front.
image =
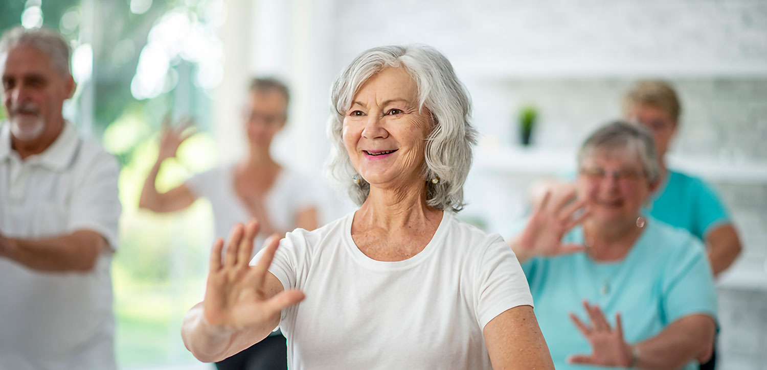
POLYGON ((463 183, 472 165, 472 146, 476 130, 469 123, 471 99, 458 80, 447 58, 423 44, 374 47, 354 58, 331 87, 331 116, 328 138, 331 156, 326 175, 346 185, 351 198, 362 205, 370 194, 370 184, 359 176, 344 147, 341 130, 346 110, 360 87, 380 70, 404 67, 418 87, 418 107, 431 113, 433 129, 426 136, 423 181, 427 204, 440 210, 463 208, 463 183), (357 175, 359 183, 352 180, 357 175), (431 178, 439 177, 433 184, 431 178))

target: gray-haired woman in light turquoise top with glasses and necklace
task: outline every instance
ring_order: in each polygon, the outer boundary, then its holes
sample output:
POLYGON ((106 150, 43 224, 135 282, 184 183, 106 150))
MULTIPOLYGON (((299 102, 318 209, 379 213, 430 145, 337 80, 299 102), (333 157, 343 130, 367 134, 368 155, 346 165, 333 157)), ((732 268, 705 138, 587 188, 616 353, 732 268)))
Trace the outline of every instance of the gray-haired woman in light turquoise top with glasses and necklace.
POLYGON ((578 166, 575 194, 545 195, 509 241, 556 368, 696 368, 713 350, 713 275, 692 234, 642 213, 660 182, 650 133, 604 126, 578 166))

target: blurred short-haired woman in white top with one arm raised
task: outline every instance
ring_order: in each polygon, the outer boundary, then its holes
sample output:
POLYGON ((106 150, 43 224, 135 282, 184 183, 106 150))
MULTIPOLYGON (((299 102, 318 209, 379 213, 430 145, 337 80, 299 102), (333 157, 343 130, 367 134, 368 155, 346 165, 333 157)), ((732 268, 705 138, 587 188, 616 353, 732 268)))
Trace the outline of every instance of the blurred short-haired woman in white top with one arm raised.
MULTIPOLYGON (((257 218, 262 225, 262 233, 256 236, 259 245, 268 234, 285 235, 294 228, 317 228, 317 199, 311 182, 279 165, 269 153, 272 138, 285 126, 288 100, 285 84, 270 78, 254 79, 243 117, 248 156, 235 165, 202 172, 183 185, 160 193, 155 188, 160 164, 176 156, 179 145, 190 135, 183 133, 186 125, 166 129, 157 162, 144 183, 139 207, 173 212, 205 197, 212 205, 216 235, 225 235, 238 222, 257 218)), ((285 359, 285 339, 276 333, 248 352, 217 365, 221 370, 278 365, 285 368, 285 359)))

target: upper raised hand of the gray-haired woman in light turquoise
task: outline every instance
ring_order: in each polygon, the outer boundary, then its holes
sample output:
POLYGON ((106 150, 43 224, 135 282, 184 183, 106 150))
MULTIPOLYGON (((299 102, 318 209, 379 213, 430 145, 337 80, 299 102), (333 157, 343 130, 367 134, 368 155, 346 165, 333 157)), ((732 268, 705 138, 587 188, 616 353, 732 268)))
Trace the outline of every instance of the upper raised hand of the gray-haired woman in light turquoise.
POLYGON ((551 191, 546 192, 535 206, 532 215, 519 236, 519 244, 536 256, 555 256, 574 253, 584 249, 580 244, 562 244, 562 237, 575 225, 588 217, 585 201, 575 200, 574 190, 566 192, 555 201, 551 200, 551 191))

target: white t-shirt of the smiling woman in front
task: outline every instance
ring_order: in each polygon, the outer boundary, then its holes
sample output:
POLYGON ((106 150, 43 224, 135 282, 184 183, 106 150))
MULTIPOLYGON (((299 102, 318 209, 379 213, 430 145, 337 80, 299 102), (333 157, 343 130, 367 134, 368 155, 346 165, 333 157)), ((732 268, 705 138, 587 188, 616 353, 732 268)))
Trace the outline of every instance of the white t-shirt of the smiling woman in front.
POLYGON ((490 368, 482 329, 532 306, 509 245, 445 212, 419 254, 384 262, 354 244, 353 218, 288 233, 269 268, 306 294, 281 315, 289 368, 490 368))

